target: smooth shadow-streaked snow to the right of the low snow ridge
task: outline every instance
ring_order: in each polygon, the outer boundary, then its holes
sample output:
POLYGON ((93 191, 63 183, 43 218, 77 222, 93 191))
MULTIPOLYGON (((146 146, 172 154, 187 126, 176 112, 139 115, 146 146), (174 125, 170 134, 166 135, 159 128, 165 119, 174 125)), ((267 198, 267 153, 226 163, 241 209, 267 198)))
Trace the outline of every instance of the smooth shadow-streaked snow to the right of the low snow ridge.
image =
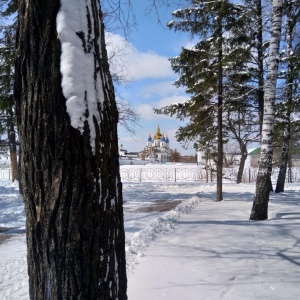
POLYGON ((300 299, 298 193, 272 194, 270 219, 249 222, 244 188, 237 198, 226 186, 220 203, 202 199, 153 241, 129 273, 128 299, 300 299))

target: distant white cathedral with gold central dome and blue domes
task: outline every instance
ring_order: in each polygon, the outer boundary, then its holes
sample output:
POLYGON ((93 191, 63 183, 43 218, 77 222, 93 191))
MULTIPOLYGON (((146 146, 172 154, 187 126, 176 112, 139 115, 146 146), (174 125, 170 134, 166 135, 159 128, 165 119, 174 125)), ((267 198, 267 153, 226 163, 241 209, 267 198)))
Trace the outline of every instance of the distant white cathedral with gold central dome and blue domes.
POLYGON ((167 162, 170 155, 170 144, 168 136, 160 133, 159 125, 153 138, 149 134, 144 152, 147 155, 147 160, 158 161, 161 163, 167 162))

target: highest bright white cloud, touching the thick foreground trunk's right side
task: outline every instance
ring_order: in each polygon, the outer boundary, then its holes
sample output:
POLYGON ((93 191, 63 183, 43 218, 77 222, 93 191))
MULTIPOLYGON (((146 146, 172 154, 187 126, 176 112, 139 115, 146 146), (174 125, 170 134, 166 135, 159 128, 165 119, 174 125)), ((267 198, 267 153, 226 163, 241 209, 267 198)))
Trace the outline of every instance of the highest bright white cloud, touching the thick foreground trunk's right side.
POLYGON ((174 77, 174 72, 168 57, 160 56, 155 52, 140 52, 132 44, 126 42, 120 35, 106 34, 106 48, 113 65, 119 71, 126 64, 126 72, 134 80, 146 78, 174 77), (119 66, 119 67, 118 67, 119 66))

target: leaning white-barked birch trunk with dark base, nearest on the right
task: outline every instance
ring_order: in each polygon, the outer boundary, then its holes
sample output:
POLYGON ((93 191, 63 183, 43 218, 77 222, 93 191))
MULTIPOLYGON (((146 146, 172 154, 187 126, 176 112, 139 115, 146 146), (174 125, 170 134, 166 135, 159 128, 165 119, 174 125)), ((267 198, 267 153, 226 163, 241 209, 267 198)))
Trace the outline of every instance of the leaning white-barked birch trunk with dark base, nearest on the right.
POLYGON ((281 20, 282 0, 273 0, 272 32, 269 49, 268 73, 264 94, 261 154, 256 180, 256 195, 254 197, 250 220, 266 220, 268 218, 269 194, 272 190, 271 172, 273 158, 273 128, 275 118, 274 103, 278 72, 281 20))

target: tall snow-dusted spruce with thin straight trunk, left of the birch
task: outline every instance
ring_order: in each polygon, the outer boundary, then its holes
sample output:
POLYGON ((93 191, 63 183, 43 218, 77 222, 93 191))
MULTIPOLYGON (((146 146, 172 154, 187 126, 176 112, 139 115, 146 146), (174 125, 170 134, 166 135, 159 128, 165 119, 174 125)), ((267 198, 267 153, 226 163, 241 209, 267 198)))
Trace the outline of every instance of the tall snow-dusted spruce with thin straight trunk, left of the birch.
POLYGON ((199 40, 192 49, 183 48, 179 57, 171 59, 173 70, 180 75, 175 85, 185 86, 191 98, 183 105, 156 112, 172 115, 177 110, 177 117, 189 118, 190 123, 179 129, 178 137, 192 138, 202 149, 207 147, 208 140, 215 139, 217 201, 220 201, 223 197, 223 111, 229 100, 225 98, 225 85, 233 80, 234 70, 249 55, 245 31, 236 30, 244 26, 247 14, 243 6, 229 1, 192 1, 192 4, 176 10, 173 16, 178 20, 168 23, 170 28, 187 31, 199 40))

